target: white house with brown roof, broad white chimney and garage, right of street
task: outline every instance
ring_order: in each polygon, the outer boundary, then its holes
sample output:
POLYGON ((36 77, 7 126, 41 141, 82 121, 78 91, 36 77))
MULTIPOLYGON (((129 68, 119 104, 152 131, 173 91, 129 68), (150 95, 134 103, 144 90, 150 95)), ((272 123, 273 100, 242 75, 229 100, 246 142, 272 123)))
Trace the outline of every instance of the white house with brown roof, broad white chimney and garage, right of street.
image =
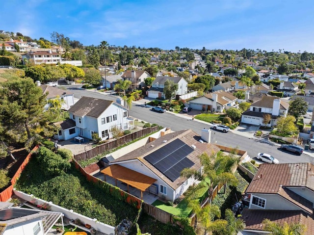
POLYGON ((252 125, 262 125, 265 114, 271 115, 267 126, 275 126, 279 116, 286 117, 289 104, 276 96, 263 96, 261 100, 251 104, 250 109, 242 113, 241 122, 252 125))

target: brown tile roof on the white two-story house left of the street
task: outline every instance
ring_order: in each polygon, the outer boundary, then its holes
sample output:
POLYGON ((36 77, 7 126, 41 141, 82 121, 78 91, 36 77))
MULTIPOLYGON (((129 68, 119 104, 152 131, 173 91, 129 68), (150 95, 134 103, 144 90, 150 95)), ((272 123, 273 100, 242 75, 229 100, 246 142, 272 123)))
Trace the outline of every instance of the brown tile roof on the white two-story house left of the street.
POLYGON ((83 96, 68 111, 76 116, 98 118, 113 103, 113 101, 83 96))

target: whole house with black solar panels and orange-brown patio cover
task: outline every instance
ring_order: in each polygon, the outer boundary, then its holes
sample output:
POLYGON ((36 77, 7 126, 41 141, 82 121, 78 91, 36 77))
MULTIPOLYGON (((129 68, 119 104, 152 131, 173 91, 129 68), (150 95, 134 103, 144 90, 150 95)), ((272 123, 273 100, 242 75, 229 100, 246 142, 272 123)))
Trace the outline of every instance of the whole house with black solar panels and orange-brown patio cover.
POLYGON ((105 176, 127 183, 141 192, 149 190, 165 201, 179 198, 190 185, 197 183, 194 178, 181 177, 184 168, 202 170, 202 153, 216 154, 220 149, 210 143, 209 129, 199 136, 192 130, 177 131, 162 135, 156 140, 110 161, 101 172, 105 176), (204 134, 203 134, 204 133, 204 134))

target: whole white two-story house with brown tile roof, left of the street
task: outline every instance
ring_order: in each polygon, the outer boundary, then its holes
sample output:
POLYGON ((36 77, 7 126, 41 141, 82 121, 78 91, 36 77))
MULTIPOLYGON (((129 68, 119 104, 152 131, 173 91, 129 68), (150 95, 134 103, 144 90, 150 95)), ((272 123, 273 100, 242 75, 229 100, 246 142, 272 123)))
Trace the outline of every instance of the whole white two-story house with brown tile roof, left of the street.
POLYGON ((102 139, 111 138, 112 129, 122 131, 129 129, 129 110, 113 101, 82 97, 68 110, 70 119, 55 123, 60 127, 54 136, 56 139, 68 140, 77 136, 92 139, 97 133, 102 139))

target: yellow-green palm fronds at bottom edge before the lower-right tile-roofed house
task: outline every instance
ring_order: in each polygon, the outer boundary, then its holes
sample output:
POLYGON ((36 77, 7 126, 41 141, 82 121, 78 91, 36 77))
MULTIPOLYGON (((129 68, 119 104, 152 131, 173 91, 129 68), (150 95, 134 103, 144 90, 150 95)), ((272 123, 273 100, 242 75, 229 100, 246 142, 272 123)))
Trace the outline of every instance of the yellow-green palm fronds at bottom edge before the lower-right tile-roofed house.
POLYGON ((284 223, 283 226, 280 224, 264 219, 262 224, 265 226, 264 230, 271 232, 272 235, 304 235, 306 226, 301 223, 284 223))

